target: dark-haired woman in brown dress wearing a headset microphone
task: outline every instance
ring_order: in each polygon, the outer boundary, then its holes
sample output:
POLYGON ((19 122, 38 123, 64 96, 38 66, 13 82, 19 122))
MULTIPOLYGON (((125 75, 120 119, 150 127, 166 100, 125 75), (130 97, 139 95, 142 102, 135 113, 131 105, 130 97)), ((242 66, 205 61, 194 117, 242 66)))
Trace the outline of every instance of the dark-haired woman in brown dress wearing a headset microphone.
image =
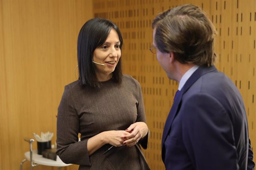
POLYGON ((78 35, 79 80, 65 86, 58 107, 57 154, 79 170, 149 169, 138 145, 148 144, 142 91, 122 74, 122 44, 118 27, 102 18, 78 35))

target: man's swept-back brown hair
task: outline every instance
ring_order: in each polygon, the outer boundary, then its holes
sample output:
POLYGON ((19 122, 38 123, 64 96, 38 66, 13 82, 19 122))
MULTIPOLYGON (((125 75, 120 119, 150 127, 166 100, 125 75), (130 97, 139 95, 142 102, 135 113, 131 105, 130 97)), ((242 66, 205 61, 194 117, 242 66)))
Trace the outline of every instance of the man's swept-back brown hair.
POLYGON ((152 23, 157 49, 173 52, 180 63, 214 64, 216 29, 198 7, 186 4, 158 14, 152 23))

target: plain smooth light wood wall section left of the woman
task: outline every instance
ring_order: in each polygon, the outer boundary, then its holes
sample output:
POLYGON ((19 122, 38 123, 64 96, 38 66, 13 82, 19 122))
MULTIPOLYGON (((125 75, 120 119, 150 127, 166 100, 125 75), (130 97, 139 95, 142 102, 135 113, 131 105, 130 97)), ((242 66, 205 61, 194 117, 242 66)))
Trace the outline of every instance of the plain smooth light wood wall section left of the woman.
POLYGON ((78 32, 92 17, 92 0, 0 0, 0 170, 20 168, 33 132, 54 132, 55 143, 64 86, 76 80, 78 32))

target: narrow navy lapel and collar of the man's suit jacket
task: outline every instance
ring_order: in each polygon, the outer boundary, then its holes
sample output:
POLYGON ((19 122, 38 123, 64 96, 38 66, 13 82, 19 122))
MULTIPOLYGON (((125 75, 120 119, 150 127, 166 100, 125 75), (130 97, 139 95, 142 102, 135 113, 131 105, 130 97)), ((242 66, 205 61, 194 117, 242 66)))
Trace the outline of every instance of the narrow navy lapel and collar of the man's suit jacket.
MULTIPOLYGON (((172 104, 172 108, 168 114, 168 117, 166 119, 166 123, 164 125, 164 131, 163 131, 163 136, 162 136, 162 150, 164 147, 164 142, 166 140, 166 137, 170 131, 172 122, 174 120, 175 115, 178 113, 178 107, 180 105, 181 99, 183 94, 190 88, 190 86, 192 86, 192 84, 194 84, 194 82, 196 80, 198 80, 198 78, 200 78, 202 75, 208 73, 208 72, 212 72, 216 70, 215 66, 210 66, 210 67, 206 67, 206 66, 200 66, 191 76, 190 78, 188 78, 188 80, 186 81, 186 83, 184 84, 183 88, 180 90, 180 93, 176 96, 176 99, 174 100, 174 103, 172 104)), ((164 151, 164 150, 163 150, 164 151)), ((164 151, 165 152, 165 151, 164 151)), ((162 152, 162 158, 164 160, 164 152, 162 152)))

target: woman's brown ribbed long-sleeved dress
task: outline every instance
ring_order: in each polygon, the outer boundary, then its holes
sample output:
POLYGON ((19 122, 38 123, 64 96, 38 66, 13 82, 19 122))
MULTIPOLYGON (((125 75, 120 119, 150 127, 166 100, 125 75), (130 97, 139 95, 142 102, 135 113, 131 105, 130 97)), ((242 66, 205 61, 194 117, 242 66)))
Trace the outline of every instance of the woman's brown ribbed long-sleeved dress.
POLYGON ((82 87, 78 81, 65 86, 58 107, 57 154, 79 170, 148 170, 139 144, 146 149, 148 135, 132 147, 104 145, 88 156, 87 141, 103 131, 125 130, 132 123, 146 122, 142 91, 137 80, 123 75, 122 84, 112 79, 100 88, 82 87), (78 142, 78 133, 81 141, 78 142))

